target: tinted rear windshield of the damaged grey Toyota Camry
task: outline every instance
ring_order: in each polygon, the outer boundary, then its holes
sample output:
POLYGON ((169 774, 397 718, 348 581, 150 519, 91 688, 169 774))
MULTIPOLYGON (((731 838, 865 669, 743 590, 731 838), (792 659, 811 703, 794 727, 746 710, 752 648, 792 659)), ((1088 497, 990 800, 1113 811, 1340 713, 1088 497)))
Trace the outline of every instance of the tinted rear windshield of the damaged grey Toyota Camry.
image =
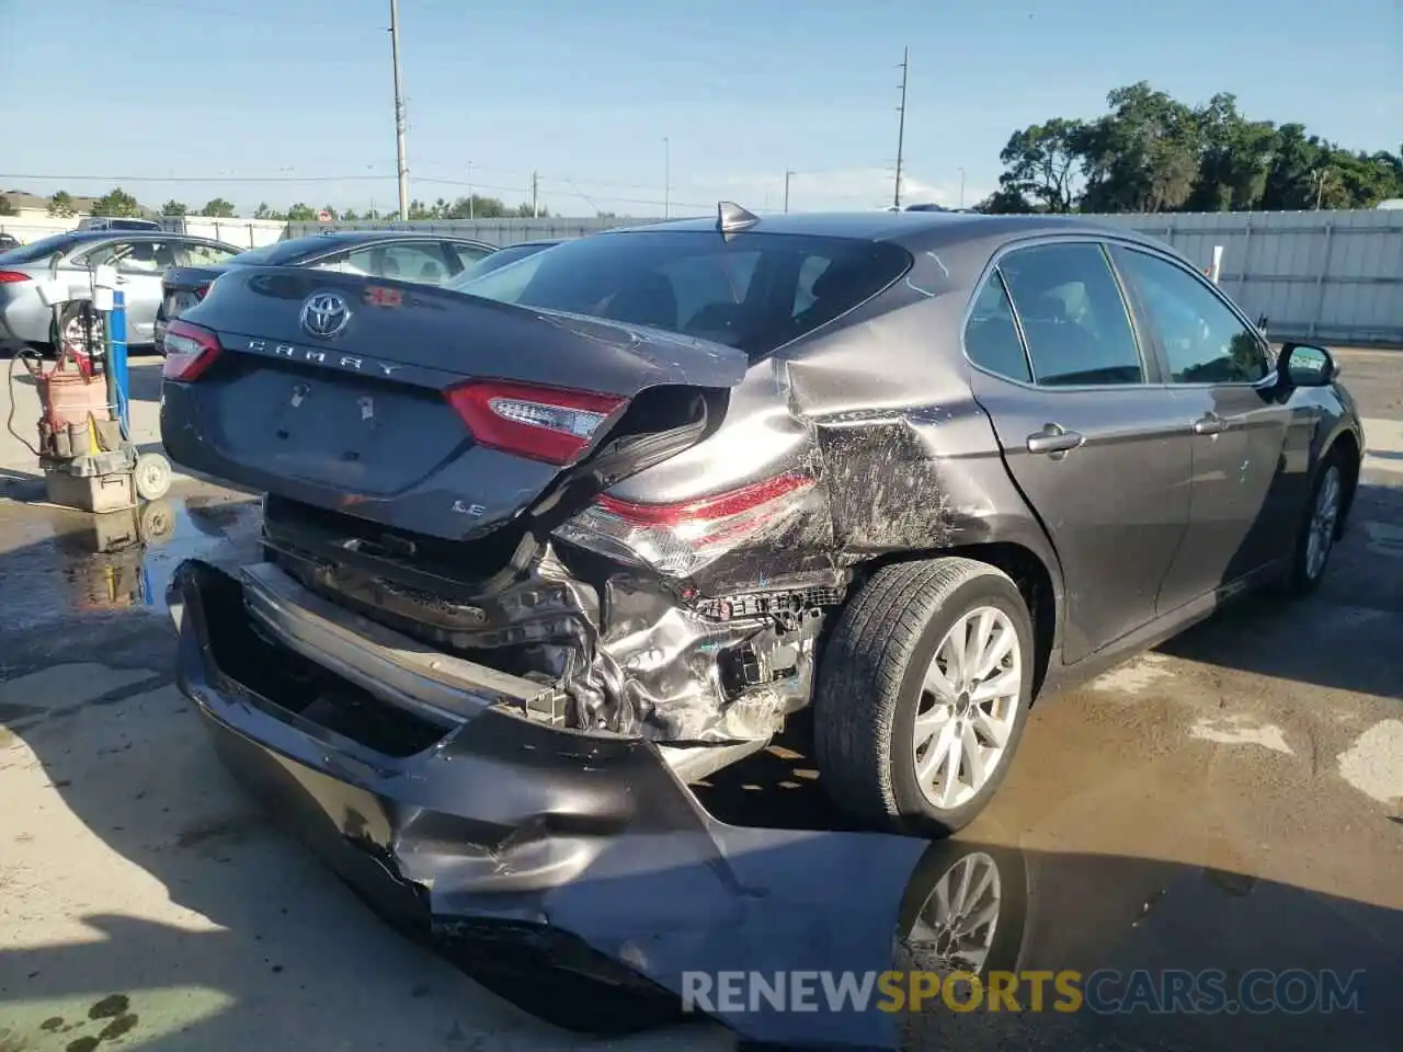
POLYGON ((655 230, 565 241, 484 276, 459 275, 449 288, 665 328, 758 358, 870 299, 908 267, 906 250, 885 241, 655 230))

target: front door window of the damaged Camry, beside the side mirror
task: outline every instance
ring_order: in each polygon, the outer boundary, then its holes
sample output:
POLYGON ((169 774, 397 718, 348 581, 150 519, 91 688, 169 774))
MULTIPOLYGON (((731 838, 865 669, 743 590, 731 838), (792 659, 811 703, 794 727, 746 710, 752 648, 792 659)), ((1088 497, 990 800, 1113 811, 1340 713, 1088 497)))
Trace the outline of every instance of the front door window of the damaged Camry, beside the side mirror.
POLYGON ((1257 334, 1197 275, 1149 252, 1117 247, 1169 359, 1174 383, 1256 383, 1270 366, 1257 334))

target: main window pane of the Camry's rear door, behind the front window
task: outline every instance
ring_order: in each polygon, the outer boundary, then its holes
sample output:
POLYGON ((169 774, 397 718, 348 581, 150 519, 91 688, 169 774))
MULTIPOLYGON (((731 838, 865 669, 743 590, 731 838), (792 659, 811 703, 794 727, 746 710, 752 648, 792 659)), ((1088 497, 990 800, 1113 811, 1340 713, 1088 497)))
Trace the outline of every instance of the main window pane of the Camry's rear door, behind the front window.
POLYGON ((1097 244, 1020 248, 999 262, 1044 387, 1143 383, 1125 300, 1097 244))

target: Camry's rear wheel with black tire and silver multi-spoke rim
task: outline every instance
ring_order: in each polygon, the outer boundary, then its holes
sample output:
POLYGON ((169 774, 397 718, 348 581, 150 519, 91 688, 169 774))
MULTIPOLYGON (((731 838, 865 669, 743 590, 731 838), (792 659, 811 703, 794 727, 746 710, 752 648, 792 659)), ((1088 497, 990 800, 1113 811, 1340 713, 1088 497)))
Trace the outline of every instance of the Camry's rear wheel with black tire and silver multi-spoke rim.
POLYGON ((1027 605, 1002 569, 946 557, 877 571, 819 662, 814 746, 833 802, 892 832, 967 826, 1023 736, 1034 655, 1027 605))

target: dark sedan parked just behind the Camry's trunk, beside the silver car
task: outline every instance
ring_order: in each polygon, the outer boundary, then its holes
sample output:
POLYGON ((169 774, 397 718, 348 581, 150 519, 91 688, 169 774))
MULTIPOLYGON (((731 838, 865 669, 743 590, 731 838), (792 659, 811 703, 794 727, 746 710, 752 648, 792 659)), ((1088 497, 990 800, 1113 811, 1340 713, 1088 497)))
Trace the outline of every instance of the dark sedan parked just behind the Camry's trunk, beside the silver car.
POLYGON ((449 234, 341 230, 275 241, 219 264, 173 267, 166 271, 156 313, 156 348, 163 349, 166 325, 171 318, 199 303, 215 278, 230 267, 313 267, 363 278, 442 285, 495 251, 485 241, 449 234))

